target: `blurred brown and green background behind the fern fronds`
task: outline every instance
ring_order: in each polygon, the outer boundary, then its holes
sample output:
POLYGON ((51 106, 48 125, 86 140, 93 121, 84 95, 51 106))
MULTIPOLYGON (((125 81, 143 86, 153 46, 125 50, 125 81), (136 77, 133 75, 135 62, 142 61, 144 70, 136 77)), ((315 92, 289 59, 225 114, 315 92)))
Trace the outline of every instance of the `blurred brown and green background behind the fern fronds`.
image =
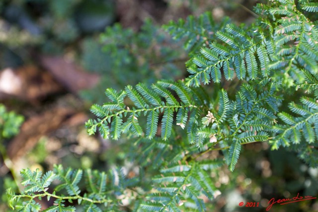
MULTIPOLYGON (((127 84, 187 75, 184 63, 190 50, 183 48, 182 39, 173 41, 160 25, 205 11, 212 11, 215 21, 226 23, 228 15, 249 24, 256 2, 1 0, 0 211, 10 211, 5 189, 22 189, 16 184, 21 168, 47 171, 62 163, 104 170, 117 165, 136 175, 137 159, 127 152, 140 149, 129 138, 111 142, 87 136, 83 123, 90 116, 90 105, 106 101, 108 87, 119 90, 127 84), (23 118, 7 112, 11 110, 25 117, 20 131, 23 118)), ((262 212, 271 198, 318 196, 318 169, 284 149, 270 151, 267 143, 244 145, 235 172, 222 167, 211 177, 218 179, 221 194, 207 205, 208 211, 262 212), (259 207, 239 207, 239 202, 259 202, 259 207)), ((318 202, 278 205, 272 210, 314 212, 318 202)))

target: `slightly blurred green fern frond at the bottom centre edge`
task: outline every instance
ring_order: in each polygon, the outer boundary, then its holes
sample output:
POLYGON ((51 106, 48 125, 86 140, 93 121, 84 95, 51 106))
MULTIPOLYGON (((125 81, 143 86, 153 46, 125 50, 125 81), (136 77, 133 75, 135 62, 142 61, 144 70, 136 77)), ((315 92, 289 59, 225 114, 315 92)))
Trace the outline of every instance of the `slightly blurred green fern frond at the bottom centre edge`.
MULTIPOLYGON (((220 165, 222 165, 220 161, 204 161, 201 162, 201 165, 199 163, 182 164, 180 162, 171 164, 167 168, 161 169, 161 174, 153 178, 153 182, 159 185, 159 187, 156 187, 159 193, 149 195, 148 198, 159 200, 158 202, 162 205, 156 205, 158 211, 170 210, 172 207, 186 209, 187 206, 183 204, 184 202, 194 202, 198 211, 204 211, 205 206, 202 199, 198 197, 200 194, 204 194, 213 199, 213 194, 216 191, 206 170, 217 168, 220 165), (206 168, 205 170, 201 168, 202 165, 206 168)), ((147 202, 142 207, 155 210, 152 202, 147 202)))

